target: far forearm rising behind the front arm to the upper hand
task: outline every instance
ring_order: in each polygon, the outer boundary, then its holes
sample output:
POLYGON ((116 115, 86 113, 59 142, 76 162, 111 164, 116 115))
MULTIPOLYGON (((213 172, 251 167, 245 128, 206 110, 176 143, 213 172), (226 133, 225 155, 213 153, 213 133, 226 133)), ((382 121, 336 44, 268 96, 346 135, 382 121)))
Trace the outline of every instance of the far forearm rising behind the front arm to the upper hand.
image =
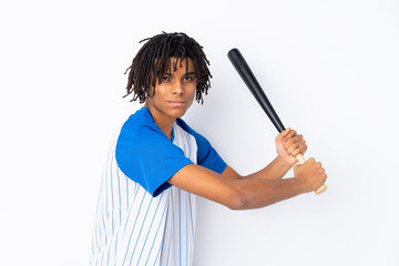
POLYGON ((245 178, 280 180, 293 167, 280 157, 276 157, 263 170, 245 176, 245 178))

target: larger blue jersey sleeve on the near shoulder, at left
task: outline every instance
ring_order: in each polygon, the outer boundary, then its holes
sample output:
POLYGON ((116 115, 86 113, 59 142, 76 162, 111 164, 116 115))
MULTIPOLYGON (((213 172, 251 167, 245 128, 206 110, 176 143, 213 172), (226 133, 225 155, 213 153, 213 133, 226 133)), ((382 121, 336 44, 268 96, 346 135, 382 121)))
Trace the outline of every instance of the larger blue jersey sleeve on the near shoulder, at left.
POLYGON ((121 171, 153 196, 168 188, 166 181, 193 163, 156 126, 136 129, 127 123, 117 139, 115 156, 121 171))

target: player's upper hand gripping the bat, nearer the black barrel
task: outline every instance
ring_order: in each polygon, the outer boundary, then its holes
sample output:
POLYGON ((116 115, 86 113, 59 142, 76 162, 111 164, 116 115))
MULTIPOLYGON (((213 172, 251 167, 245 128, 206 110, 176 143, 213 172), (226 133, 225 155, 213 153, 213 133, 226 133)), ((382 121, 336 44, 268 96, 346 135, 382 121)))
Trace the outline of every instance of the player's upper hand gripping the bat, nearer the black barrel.
POLYGON ((289 127, 279 133, 275 141, 278 156, 290 166, 297 163, 295 156, 307 150, 303 135, 297 135, 296 131, 289 127))

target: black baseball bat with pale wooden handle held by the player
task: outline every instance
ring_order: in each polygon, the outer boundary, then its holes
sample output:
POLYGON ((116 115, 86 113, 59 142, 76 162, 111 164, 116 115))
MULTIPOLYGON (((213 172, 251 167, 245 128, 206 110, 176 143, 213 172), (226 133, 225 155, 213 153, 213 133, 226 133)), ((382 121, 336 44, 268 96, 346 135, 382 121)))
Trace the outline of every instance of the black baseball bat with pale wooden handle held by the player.
MULTIPOLYGON (((282 121, 279 120, 276 111, 274 110, 272 103, 268 101, 264 90, 259 85, 259 82, 256 80, 254 73, 252 72, 249 65, 245 61, 243 54, 238 49, 234 48, 227 53, 228 59, 231 60, 234 68, 237 70, 241 78, 244 80, 245 84, 248 86, 249 91, 255 96, 256 101, 260 104, 262 109, 265 111, 267 116, 270 119, 272 123, 276 126, 277 131, 280 133, 285 130, 282 121)), ((299 164, 306 162, 303 154, 298 154, 296 160, 299 164)), ((315 191, 316 194, 320 194, 327 190, 327 186, 324 184, 315 191)))

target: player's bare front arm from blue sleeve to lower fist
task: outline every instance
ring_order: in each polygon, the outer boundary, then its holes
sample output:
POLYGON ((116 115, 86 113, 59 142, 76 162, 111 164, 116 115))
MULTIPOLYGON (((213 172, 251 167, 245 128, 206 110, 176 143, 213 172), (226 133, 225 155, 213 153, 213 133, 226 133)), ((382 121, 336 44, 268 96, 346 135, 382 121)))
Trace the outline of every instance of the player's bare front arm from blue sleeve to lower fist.
POLYGON ((284 180, 229 178, 200 165, 181 168, 167 182, 232 209, 264 207, 317 190, 327 175, 320 163, 309 158, 294 168, 295 177, 284 180))

